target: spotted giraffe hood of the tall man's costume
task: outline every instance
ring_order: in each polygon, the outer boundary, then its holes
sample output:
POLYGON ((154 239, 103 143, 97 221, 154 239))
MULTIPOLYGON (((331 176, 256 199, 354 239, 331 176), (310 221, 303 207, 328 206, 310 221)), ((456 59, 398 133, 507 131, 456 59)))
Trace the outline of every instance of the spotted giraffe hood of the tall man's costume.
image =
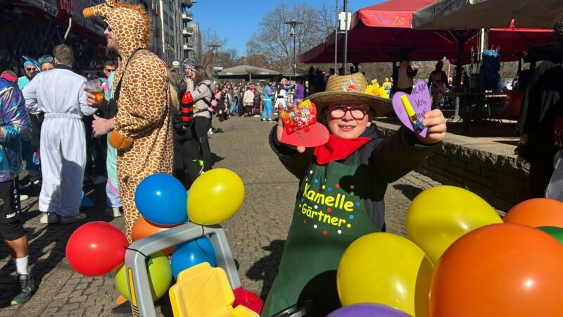
POLYGON ((146 49, 151 42, 151 23, 142 5, 132 6, 115 0, 106 0, 97 6, 84 8, 84 18, 98 17, 118 38, 121 58, 127 61, 135 49, 146 49))

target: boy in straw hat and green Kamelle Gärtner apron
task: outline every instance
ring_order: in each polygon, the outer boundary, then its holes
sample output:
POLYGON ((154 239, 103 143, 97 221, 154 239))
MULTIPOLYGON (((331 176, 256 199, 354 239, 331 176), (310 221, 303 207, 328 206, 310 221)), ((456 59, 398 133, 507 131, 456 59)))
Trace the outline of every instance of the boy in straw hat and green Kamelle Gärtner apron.
POLYGON ((362 235, 385 230, 384 195, 389 183, 413 170, 445 137, 440 110, 426 113, 426 137, 405 127, 382 139, 372 123, 391 111, 390 99, 366 94, 362 73, 329 77, 325 92, 308 99, 329 141, 316 148, 281 144, 281 120, 270 145, 301 180, 279 272, 261 316, 312 300, 308 316, 327 316, 340 306, 336 268, 343 251, 362 235))

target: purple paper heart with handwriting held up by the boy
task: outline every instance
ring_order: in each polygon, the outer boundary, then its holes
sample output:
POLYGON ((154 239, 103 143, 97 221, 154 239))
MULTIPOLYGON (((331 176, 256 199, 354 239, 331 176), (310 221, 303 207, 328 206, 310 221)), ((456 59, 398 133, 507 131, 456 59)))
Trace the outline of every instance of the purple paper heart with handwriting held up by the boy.
MULTIPOLYGON (((415 111, 418 120, 422 122, 422 120, 424 119, 424 113, 430 111, 432 104, 432 102, 430 101, 430 92, 428 85, 426 84, 426 82, 424 82, 424 80, 420 80, 412 89, 412 94, 397 92, 393 95, 393 109, 400 119, 400 122, 402 122, 403 125, 405 125, 410 130, 417 132, 413 127, 412 120, 410 120, 407 111, 405 110, 405 106, 403 106, 403 101, 401 101, 400 99, 400 97, 403 95, 407 95, 407 99, 410 101, 412 109, 415 111)), ((424 128, 424 130, 417 133, 421 137, 426 137, 427 130, 428 128, 424 128)))

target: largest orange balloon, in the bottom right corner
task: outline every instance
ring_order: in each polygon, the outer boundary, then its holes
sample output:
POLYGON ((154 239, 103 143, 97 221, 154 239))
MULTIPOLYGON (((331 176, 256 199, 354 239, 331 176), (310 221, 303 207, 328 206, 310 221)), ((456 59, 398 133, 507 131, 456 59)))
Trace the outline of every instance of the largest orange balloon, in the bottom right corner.
POLYGON ((467 233, 445 251, 430 286, 431 317, 562 316, 563 244, 525 225, 467 233))

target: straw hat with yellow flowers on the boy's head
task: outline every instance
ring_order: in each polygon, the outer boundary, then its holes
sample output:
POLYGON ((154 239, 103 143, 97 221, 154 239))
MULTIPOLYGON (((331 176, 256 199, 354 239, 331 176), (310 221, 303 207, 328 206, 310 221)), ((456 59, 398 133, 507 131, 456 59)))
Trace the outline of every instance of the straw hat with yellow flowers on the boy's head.
POLYGON ((366 94, 367 80, 362 73, 351 75, 331 75, 324 92, 310 95, 309 99, 317 106, 317 113, 329 105, 364 105, 370 106, 375 111, 375 116, 384 116, 391 111, 391 99, 366 94))

